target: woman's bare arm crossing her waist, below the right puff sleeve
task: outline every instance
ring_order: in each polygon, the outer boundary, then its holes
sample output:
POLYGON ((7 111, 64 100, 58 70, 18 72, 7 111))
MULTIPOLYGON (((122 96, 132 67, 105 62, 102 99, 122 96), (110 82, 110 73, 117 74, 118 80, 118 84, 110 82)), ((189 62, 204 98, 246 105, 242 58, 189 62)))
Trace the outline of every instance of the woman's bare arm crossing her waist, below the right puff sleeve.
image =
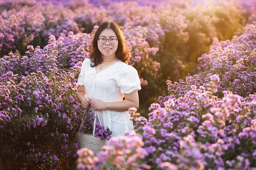
POLYGON ((117 112, 128 111, 130 107, 139 107, 138 91, 130 94, 124 94, 124 100, 120 102, 102 102, 98 99, 90 98, 90 104, 93 110, 113 110, 117 112))

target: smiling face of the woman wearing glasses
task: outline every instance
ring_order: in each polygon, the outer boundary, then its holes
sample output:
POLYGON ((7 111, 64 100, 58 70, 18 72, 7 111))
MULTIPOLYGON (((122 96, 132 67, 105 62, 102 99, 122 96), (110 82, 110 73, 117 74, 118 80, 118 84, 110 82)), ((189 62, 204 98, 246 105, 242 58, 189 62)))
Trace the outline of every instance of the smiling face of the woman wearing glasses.
MULTIPOLYGON (((104 42, 102 39, 117 39, 117 35, 112 29, 104 29, 98 38, 101 38, 101 41, 104 42)), ((118 40, 116 43, 110 44, 110 42, 113 40, 107 40, 105 43, 100 43, 99 40, 98 43, 98 49, 101 52, 101 57, 110 58, 115 57, 115 52, 117 51, 118 47, 118 40)), ((114 40, 115 42, 115 40, 114 40)))

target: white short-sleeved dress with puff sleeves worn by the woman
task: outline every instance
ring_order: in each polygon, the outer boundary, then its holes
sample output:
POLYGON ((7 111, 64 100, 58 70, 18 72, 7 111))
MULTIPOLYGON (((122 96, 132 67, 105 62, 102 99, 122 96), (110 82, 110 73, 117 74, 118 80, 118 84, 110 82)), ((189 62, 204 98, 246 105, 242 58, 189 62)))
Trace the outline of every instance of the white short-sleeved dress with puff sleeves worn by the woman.
MULTIPOLYGON (((123 100, 124 94, 141 89, 137 70, 124 62, 118 61, 99 73, 96 72, 96 67, 91 67, 90 64, 89 58, 83 61, 77 82, 79 86, 85 87, 87 97, 103 102, 118 102, 123 100)), ((99 110, 98 113, 101 125, 112 130, 112 137, 133 130, 128 111, 99 110)))

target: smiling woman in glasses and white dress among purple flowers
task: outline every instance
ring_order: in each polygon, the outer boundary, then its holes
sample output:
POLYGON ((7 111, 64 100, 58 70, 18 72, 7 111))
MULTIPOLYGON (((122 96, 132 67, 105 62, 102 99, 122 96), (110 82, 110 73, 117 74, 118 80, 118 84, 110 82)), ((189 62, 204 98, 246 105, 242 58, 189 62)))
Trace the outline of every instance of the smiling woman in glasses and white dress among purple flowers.
POLYGON ((130 51, 114 21, 99 26, 89 52, 78 77, 77 98, 83 108, 98 111, 101 124, 112 130, 112 136, 124 135, 133 130, 128 109, 138 108, 141 85, 137 70, 128 65, 130 51))

